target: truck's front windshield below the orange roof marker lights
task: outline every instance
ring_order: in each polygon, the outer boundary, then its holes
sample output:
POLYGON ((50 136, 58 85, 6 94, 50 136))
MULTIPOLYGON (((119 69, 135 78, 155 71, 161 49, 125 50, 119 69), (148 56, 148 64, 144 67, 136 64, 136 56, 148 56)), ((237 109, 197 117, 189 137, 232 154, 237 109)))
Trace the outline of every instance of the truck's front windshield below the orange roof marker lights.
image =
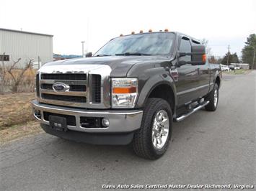
POLYGON ((167 32, 133 34, 110 40, 94 56, 168 55, 175 34, 167 32))

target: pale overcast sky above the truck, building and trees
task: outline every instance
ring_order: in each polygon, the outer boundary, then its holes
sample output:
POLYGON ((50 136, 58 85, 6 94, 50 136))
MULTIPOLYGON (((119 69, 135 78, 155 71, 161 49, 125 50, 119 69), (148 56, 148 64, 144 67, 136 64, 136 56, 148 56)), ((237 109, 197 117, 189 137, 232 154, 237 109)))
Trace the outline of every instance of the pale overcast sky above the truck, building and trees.
POLYGON ((256 33, 254 0, 1 0, 0 27, 53 34, 53 52, 81 55, 81 41, 95 52, 111 39, 140 29, 168 28, 208 39, 213 55, 241 55, 256 33))

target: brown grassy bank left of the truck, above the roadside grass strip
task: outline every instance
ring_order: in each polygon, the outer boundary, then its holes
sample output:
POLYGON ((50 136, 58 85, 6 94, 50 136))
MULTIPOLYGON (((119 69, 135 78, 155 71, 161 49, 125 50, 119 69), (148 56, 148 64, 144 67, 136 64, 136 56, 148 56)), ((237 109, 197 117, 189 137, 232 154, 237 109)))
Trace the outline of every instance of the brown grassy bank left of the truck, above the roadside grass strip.
POLYGON ((0 130, 33 121, 30 101, 35 93, 9 93, 0 95, 0 130))

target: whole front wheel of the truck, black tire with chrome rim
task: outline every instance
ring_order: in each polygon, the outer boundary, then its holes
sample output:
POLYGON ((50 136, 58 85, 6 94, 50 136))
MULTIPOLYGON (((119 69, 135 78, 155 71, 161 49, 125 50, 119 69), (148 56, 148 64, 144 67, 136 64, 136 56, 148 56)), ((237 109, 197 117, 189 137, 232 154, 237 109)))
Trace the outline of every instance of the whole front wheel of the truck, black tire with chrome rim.
POLYGON ((146 159, 158 159, 167 151, 172 136, 172 109, 167 101, 149 98, 141 128, 133 137, 134 152, 146 159))

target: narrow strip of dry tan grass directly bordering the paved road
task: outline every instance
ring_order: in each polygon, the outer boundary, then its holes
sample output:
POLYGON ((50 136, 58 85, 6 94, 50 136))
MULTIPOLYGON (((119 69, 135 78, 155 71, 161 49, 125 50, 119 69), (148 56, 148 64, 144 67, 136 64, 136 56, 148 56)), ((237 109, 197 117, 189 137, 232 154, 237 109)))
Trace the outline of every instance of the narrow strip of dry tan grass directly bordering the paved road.
POLYGON ((20 139, 24 136, 30 136, 43 132, 37 122, 29 122, 22 126, 12 126, 9 129, 0 131, 0 145, 6 144, 9 141, 20 139))

